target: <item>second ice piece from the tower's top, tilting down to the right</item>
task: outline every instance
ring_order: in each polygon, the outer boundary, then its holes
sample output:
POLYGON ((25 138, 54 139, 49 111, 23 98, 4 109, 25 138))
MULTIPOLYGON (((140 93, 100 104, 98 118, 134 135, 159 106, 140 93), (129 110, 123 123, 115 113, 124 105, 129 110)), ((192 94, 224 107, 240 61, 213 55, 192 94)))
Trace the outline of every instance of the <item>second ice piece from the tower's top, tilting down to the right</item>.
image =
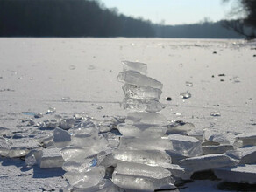
POLYGON ((160 90, 163 87, 162 83, 158 80, 149 78, 139 72, 132 71, 120 72, 117 76, 117 81, 135 86, 149 86, 160 90))

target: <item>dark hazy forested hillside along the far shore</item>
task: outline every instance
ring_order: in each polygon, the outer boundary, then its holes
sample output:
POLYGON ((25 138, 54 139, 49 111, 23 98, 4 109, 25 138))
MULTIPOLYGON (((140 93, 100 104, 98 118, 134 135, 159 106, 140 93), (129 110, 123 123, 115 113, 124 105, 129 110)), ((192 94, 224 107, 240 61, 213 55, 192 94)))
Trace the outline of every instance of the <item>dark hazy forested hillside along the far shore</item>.
POLYGON ((152 24, 90 0, 0 0, 0 37, 243 38, 222 22, 152 24))

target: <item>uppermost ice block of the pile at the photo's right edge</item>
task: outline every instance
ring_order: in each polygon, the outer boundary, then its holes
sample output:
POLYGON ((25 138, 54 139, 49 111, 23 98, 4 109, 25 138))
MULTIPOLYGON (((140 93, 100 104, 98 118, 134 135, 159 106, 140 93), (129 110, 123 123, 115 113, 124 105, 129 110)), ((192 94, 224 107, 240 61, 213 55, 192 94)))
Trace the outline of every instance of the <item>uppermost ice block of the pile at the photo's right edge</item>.
POLYGON ((256 146, 256 133, 252 134, 238 134, 235 138, 234 146, 244 147, 244 146, 256 146))

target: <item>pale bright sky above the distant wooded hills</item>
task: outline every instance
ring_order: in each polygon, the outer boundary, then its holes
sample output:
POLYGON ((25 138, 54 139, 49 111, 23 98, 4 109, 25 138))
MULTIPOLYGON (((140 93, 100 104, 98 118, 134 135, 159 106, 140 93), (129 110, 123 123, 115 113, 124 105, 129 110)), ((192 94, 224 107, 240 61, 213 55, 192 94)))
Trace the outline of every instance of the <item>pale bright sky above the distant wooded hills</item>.
POLYGON ((143 17, 153 23, 195 24, 210 18, 216 22, 227 18, 232 3, 222 0, 101 0, 106 8, 116 7, 126 16, 143 17))

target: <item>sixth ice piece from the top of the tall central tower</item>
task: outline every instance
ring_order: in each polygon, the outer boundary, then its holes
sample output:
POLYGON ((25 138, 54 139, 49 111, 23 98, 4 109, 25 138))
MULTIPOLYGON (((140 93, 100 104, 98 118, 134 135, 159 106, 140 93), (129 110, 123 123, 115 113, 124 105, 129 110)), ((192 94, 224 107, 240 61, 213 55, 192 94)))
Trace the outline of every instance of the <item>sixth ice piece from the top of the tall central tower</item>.
POLYGON ((150 124, 124 124, 117 126, 121 134, 126 137, 160 138, 167 132, 167 127, 150 124))

